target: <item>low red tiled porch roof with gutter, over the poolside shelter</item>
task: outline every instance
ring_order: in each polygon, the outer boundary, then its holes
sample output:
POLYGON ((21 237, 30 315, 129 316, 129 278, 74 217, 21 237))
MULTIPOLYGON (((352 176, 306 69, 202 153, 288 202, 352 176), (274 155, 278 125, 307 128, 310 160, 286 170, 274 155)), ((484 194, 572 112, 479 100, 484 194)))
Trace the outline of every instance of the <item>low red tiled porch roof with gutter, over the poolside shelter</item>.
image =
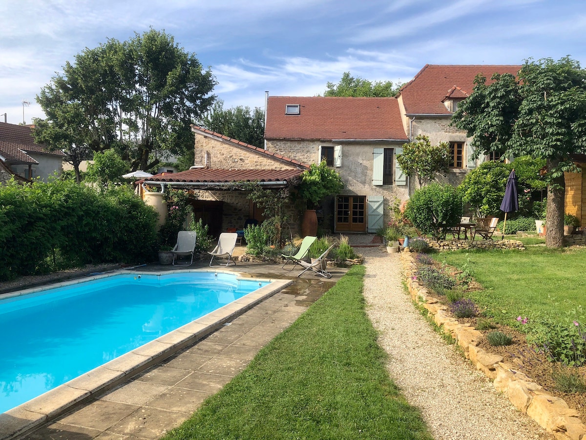
POLYGON ((282 182, 289 181, 302 174, 304 170, 210 170, 196 168, 172 174, 157 174, 146 178, 154 182, 189 182, 189 183, 231 183, 231 182, 282 182))

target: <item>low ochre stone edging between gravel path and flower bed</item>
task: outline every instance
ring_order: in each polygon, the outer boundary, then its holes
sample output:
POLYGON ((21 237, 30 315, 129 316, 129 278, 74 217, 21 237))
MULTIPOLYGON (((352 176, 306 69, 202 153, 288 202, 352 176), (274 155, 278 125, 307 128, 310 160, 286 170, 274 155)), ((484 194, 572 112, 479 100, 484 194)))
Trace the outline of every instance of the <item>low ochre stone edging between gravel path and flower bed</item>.
POLYGON ((477 347, 478 341, 483 337, 482 333, 471 324, 461 324, 450 316, 448 307, 414 279, 417 265, 413 255, 411 252, 401 254, 411 297, 428 310, 428 316, 445 333, 456 340, 476 369, 492 379, 496 390, 505 394, 519 411, 529 415, 546 431, 552 432, 556 439, 586 440, 586 425, 578 417, 578 412, 569 408, 563 399, 547 394, 531 378, 516 371, 514 365, 504 363, 501 356, 477 347))

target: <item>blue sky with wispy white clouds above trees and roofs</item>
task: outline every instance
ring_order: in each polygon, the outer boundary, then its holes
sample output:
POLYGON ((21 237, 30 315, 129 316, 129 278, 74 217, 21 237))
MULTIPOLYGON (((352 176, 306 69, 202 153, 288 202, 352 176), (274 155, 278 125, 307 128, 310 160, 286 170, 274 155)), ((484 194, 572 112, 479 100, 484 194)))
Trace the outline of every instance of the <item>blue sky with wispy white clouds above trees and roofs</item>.
POLYGON ((314 96, 343 72, 406 82, 427 63, 565 55, 586 67, 577 0, 1 0, 0 114, 22 122, 25 100, 27 123, 44 117, 35 97, 67 60, 151 26, 212 68, 225 107, 314 96))

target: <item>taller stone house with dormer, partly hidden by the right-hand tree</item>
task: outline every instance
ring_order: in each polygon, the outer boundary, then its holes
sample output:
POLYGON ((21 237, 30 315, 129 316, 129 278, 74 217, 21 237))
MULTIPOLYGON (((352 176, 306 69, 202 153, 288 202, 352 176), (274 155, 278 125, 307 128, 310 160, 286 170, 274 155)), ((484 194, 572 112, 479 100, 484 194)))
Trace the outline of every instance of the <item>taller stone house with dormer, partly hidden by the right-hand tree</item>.
POLYGON ((482 74, 489 84, 493 73, 517 75, 520 65, 425 65, 415 77, 401 87, 397 100, 401 109, 403 127, 410 139, 420 134, 428 136, 432 145, 447 142, 452 160, 446 179, 458 185, 466 171, 473 170, 486 160, 499 160, 500 156, 481 155, 473 158, 471 138, 466 132, 450 126, 458 103, 474 89, 476 75, 482 74))

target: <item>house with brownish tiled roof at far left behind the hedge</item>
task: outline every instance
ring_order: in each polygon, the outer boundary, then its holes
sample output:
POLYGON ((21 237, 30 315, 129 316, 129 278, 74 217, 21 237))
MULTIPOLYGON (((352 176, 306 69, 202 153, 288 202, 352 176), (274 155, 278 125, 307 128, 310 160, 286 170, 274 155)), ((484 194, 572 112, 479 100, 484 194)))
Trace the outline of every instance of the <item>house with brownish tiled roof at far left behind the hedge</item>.
POLYGON ((13 174, 46 182, 55 172, 61 174, 63 157, 62 151, 36 144, 30 127, 0 123, 0 161, 13 174))

